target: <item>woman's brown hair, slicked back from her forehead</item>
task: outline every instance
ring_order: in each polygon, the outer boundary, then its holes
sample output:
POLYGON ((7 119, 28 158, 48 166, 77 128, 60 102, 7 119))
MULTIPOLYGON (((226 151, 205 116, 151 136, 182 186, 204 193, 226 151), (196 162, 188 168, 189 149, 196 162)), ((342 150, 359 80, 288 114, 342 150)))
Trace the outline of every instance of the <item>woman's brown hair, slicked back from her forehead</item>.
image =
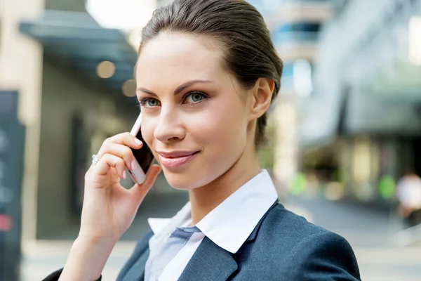
MULTIPOLYGON (((241 86, 251 89, 259 78, 274 80, 272 101, 281 87, 283 63, 262 15, 243 0, 175 0, 156 9, 142 30, 142 46, 161 32, 182 32, 214 37, 222 44, 222 63, 241 86)), ((260 117, 255 146, 265 141, 267 113, 260 117)))

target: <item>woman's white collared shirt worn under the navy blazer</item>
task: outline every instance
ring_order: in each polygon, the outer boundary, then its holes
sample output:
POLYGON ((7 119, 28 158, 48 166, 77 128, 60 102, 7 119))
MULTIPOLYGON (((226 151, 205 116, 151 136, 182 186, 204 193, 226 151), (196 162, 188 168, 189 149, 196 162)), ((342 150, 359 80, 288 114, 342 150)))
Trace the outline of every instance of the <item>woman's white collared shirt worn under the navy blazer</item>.
MULTIPOLYGON (((193 233, 163 269, 159 281, 178 280, 205 236, 222 249, 236 253, 277 198, 272 178, 262 170, 196 224, 201 232, 193 233)), ((188 202, 173 218, 149 218, 154 233, 149 240, 151 256, 163 247, 175 228, 189 226, 190 214, 188 202)))

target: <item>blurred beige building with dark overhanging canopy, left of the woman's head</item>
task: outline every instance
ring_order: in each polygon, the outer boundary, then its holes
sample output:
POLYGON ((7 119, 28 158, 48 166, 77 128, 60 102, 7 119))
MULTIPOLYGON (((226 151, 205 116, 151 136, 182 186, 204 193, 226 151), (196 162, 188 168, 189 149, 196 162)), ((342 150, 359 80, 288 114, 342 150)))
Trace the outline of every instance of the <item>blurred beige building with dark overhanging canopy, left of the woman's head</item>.
POLYGON ((78 225, 83 176, 107 136, 131 129, 136 51, 85 1, 1 0, 0 89, 25 126, 22 239, 78 225))

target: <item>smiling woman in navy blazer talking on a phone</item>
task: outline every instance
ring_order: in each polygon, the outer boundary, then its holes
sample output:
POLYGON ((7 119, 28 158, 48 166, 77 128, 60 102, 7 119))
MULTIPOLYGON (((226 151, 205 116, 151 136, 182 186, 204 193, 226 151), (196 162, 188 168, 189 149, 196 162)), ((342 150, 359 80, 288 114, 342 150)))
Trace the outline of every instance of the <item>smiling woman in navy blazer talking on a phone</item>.
MULTIPOLYGON (((282 63, 262 15, 242 0, 175 0, 142 31, 135 67, 142 136, 187 204, 152 226, 118 280, 360 280, 348 242, 278 204, 257 150, 282 63)), ((129 133, 86 174, 79 237, 47 280, 98 280, 159 174, 125 190, 129 133), (61 275, 60 275, 61 274, 61 275)))

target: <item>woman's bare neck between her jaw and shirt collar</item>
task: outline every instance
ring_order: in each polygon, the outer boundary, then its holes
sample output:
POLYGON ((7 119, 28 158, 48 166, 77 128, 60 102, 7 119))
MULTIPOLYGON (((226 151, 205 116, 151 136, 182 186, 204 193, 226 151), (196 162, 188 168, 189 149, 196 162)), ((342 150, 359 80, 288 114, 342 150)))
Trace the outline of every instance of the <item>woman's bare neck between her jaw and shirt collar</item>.
POLYGON ((240 159, 225 174, 212 183, 189 191, 193 226, 229 195, 241 188, 244 183, 260 173, 258 155, 254 149, 252 151, 241 155, 240 159))

